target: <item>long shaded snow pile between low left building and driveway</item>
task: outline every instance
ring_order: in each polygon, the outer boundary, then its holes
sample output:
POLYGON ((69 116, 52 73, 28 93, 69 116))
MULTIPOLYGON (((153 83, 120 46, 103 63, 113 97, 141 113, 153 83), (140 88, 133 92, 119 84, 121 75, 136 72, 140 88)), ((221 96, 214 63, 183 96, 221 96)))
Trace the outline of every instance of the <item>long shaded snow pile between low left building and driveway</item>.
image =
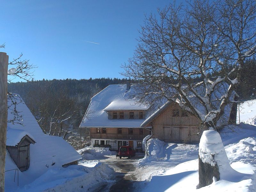
POLYGON ((112 182, 113 169, 100 162, 50 169, 21 191, 94 191, 100 182, 112 182))

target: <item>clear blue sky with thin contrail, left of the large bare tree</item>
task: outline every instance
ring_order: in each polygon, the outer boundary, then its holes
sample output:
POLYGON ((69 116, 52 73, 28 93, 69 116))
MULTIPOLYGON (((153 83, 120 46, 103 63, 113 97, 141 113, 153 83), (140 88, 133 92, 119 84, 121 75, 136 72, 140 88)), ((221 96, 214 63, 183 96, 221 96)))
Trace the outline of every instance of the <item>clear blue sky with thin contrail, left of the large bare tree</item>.
POLYGON ((123 78, 121 65, 133 56, 145 14, 170 2, 2 1, 0 52, 9 61, 22 53, 37 67, 35 80, 123 78))

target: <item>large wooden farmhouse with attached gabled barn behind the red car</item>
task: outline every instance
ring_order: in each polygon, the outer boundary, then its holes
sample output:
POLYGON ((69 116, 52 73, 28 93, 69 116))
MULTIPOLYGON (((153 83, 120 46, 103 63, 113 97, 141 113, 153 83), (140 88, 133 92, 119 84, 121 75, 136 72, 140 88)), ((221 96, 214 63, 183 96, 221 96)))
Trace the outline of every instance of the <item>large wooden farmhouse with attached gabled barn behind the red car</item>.
MULTIPOLYGON (((197 117, 182 110, 175 101, 168 101, 160 108, 139 105, 129 96, 133 92, 128 81, 109 85, 92 97, 80 124, 83 132, 90 133, 92 145, 110 145, 111 149, 130 145, 144 151, 141 144, 147 135, 167 142, 199 142, 201 121, 197 117)), ((221 124, 235 122, 236 114, 230 116, 233 108, 236 112, 236 106, 225 108, 221 124)))

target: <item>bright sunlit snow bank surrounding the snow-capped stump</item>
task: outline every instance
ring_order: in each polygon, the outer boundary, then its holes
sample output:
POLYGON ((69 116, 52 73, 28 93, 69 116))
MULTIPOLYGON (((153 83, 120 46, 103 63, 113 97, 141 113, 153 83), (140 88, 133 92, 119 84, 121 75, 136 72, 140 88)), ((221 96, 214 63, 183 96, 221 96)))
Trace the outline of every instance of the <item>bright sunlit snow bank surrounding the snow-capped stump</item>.
MULTIPOLYGON (((155 191, 226 191, 226 192, 255 192, 256 191, 256 174, 255 174, 255 145, 256 145, 256 129, 252 125, 240 124, 238 126, 226 126, 220 133, 221 138, 215 138, 214 134, 209 135, 201 143, 204 147, 208 147, 208 144, 213 144, 213 147, 202 149, 202 152, 216 153, 217 158, 215 163, 219 163, 221 158, 229 160, 231 167, 228 164, 220 164, 220 180, 213 179, 213 183, 209 186, 196 189, 198 184, 198 159, 187 161, 185 163, 177 163, 174 168, 167 167, 165 160, 161 160, 162 173, 153 176, 149 182, 142 182, 143 192, 155 192, 155 191), (212 137, 213 140, 209 140, 212 137), (226 146, 226 155, 221 148, 222 143, 226 146), (217 154, 218 153, 218 154, 217 154), (166 167, 166 168, 165 168, 166 167), (165 168, 165 169, 164 169, 165 168), (225 173, 226 171, 226 173, 225 173), (224 173, 223 173, 224 172, 224 173), (163 174, 164 173, 164 174, 163 174), (242 174, 244 173, 244 174, 242 174), (146 185, 145 185, 146 184, 146 185), (144 188, 144 186, 146 186, 144 188)), ((176 148, 175 148, 176 149, 176 148)), ((185 155, 196 153, 197 149, 188 151, 185 155)), ((174 152, 174 151, 173 151, 174 152)), ((171 158, 174 155, 172 152, 171 158)), ((201 154, 202 156, 202 154, 201 154)), ((176 159, 172 159, 175 161, 176 159)), ((179 160, 182 161, 181 159, 179 160)), ((147 164, 150 167, 147 169, 155 169, 156 162, 147 164)))

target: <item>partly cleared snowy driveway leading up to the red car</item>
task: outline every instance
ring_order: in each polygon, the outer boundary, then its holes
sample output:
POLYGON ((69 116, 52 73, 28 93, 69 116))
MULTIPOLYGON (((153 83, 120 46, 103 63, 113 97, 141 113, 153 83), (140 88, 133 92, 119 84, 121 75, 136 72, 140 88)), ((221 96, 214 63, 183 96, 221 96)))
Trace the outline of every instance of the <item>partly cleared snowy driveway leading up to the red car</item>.
POLYGON ((130 192, 142 191, 152 176, 163 174, 177 164, 197 159, 198 144, 165 143, 162 158, 152 162, 138 163, 144 154, 136 154, 131 159, 116 159, 116 156, 106 156, 100 162, 108 164, 115 170, 116 182, 101 185, 98 191, 130 192))

